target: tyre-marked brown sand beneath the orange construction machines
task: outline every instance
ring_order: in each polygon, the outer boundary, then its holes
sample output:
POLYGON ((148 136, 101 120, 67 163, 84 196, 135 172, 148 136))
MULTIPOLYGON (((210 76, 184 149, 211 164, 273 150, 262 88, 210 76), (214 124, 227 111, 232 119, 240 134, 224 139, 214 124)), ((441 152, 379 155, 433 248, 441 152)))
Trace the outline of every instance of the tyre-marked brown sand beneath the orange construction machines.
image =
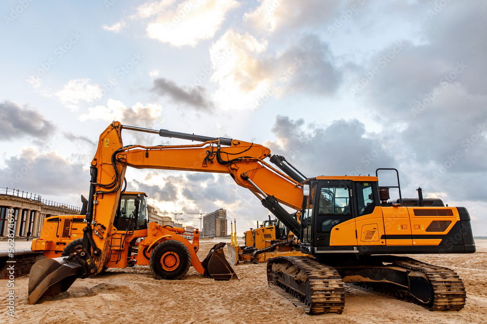
MULTIPOLYGON (((200 260, 215 242, 200 242, 200 260)), ((347 286, 342 314, 309 316, 268 287, 265 264, 245 263, 234 266, 240 279, 226 282, 207 279, 193 268, 176 281, 156 280, 144 266, 109 269, 77 279, 67 292, 37 305, 27 305, 29 278, 23 276, 15 279, 15 319, 6 315, 3 300, 0 323, 487 323, 487 240, 476 244, 475 254, 412 255, 460 275, 468 296, 461 311, 431 312, 347 286)), ((29 246, 18 242, 16 247, 29 246)), ((0 280, 0 293, 7 296, 7 280, 0 280)))

